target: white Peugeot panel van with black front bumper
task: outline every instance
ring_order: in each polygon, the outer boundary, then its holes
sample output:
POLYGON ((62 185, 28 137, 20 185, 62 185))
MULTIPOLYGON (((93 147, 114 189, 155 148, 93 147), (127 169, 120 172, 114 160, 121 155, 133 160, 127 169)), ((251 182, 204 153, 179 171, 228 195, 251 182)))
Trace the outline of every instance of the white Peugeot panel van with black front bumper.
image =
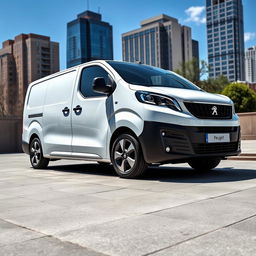
POLYGON ((29 85, 23 150, 36 169, 82 159, 112 163, 124 178, 150 164, 207 171, 240 153, 239 118, 228 97, 173 72, 92 61, 29 85))

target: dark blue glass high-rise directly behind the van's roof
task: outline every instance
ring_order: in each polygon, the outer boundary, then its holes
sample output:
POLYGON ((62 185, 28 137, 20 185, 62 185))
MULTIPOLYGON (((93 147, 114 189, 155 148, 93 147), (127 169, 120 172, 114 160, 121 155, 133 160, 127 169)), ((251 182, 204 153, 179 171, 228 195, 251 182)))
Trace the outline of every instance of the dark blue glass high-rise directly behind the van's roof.
POLYGON ((112 26, 85 11, 67 24, 67 67, 97 59, 113 59, 112 26))

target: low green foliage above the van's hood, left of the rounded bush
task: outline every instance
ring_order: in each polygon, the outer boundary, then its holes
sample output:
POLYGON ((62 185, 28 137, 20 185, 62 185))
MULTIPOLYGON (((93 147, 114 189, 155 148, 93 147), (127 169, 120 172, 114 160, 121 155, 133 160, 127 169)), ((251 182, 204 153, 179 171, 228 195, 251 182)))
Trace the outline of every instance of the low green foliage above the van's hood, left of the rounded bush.
POLYGON ((207 92, 221 93, 228 84, 227 77, 221 75, 217 78, 208 78, 207 80, 200 81, 198 86, 207 92))

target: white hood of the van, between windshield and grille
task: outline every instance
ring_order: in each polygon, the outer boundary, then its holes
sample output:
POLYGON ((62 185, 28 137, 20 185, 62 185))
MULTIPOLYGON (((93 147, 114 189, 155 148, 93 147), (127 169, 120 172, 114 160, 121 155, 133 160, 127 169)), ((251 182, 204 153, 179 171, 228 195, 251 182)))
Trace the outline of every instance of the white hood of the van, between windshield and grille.
POLYGON ((232 100, 225 95, 213 94, 205 91, 189 89, 170 88, 170 87, 148 87, 130 84, 130 88, 136 91, 146 91, 163 94, 181 101, 198 101, 205 103, 233 104, 232 100))

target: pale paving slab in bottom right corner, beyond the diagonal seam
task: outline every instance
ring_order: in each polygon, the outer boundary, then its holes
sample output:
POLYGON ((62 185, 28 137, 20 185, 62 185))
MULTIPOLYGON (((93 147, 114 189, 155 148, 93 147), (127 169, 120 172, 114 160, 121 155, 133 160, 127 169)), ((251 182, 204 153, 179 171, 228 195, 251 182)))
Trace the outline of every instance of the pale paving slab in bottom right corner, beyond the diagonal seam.
POLYGON ((256 217, 253 217, 148 255, 255 256, 255 230, 256 217))

